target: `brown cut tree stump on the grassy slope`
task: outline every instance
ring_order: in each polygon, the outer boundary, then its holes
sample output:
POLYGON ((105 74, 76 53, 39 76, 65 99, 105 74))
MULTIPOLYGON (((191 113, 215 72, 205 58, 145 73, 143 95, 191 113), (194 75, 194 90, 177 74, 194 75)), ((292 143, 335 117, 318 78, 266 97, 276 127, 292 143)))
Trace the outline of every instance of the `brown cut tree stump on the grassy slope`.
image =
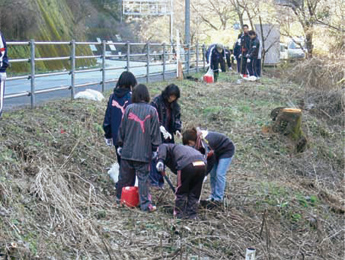
POLYGON ((302 131, 302 110, 297 108, 278 107, 271 112, 272 130, 292 139, 296 151, 303 152, 307 145, 307 139, 302 131))

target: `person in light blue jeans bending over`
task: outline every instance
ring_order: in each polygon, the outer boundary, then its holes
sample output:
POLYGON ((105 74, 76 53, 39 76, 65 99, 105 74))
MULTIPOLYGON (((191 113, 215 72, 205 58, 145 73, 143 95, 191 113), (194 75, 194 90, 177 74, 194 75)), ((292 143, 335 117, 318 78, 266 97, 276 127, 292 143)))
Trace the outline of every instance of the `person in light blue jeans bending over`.
POLYGON ((183 133, 183 144, 193 146, 204 152, 212 150, 215 162, 210 172, 211 195, 208 200, 222 202, 226 184, 226 173, 235 154, 234 143, 225 135, 217 132, 197 130, 195 128, 183 133), (205 144, 209 149, 205 149, 205 144))

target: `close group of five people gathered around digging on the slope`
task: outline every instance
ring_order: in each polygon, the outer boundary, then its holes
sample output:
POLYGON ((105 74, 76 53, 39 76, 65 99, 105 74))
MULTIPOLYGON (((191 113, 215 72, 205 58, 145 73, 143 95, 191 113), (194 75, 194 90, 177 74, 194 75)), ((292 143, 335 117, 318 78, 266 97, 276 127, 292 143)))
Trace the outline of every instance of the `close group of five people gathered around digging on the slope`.
POLYGON ((122 188, 138 179, 139 203, 143 211, 155 211, 150 196, 162 188, 168 167, 177 175, 174 215, 197 219, 202 185, 210 173, 214 203, 224 199, 226 173, 235 154, 233 142, 217 132, 187 129, 182 133, 180 89, 170 84, 150 102, 148 88, 137 84, 131 72, 123 72, 110 95, 103 129, 107 145, 114 145, 120 164, 116 198, 122 188), (183 144, 175 144, 182 138, 183 144))

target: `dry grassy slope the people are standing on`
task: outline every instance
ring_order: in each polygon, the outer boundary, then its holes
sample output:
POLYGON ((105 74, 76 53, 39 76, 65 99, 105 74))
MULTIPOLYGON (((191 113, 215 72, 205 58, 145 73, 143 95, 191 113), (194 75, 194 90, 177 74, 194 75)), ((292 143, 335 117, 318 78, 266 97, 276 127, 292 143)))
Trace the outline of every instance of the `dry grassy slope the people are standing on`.
MULTIPOLYGON (((115 151, 104 144, 101 127, 106 101, 5 113, 0 258, 243 259, 246 247, 255 247, 258 259, 343 259, 341 91, 320 100, 311 98, 313 89, 274 77, 236 81, 226 74, 211 85, 175 82, 184 129, 225 133, 237 148, 224 205, 200 207, 200 221, 173 218, 169 187, 153 192, 152 214, 115 205, 107 174, 115 151), (287 102, 303 109, 303 153, 288 138, 263 131, 271 110, 287 102)), ((148 84, 152 96, 167 84, 148 84)), ((206 182, 202 198, 209 191, 206 182)))

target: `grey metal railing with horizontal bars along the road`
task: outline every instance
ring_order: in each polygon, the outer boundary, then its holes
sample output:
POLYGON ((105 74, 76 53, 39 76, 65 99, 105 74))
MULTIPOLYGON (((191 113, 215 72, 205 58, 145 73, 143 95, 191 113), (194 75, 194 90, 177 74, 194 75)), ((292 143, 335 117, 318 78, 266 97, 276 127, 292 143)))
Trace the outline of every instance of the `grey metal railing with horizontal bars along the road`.
MULTIPOLYGON (((172 55, 175 56, 175 53, 172 51, 174 48, 176 48, 176 45, 167 45, 165 43, 130 43, 130 42, 77 42, 75 40, 72 40, 70 42, 36 42, 35 40, 30 40, 26 42, 7 42, 8 46, 29 46, 30 47, 30 57, 22 57, 20 59, 10 59, 11 63, 20 63, 20 62, 29 62, 30 63, 30 73, 28 75, 24 76, 15 76, 15 77, 9 77, 7 78, 7 81, 14 81, 14 80, 23 80, 27 79, 30 80, 30 91, 24 91, 20 93, 13 93, 9 95, 5 95, 5 99, 8 98, 16 98, 16 97, 23 97, 23 96, 30 96, 31 99, 31 107, 33 108, 36 104, 35 98, 37 94, 41 93, 49 93, 53 91, 58 90, 70 90, 71 91, 71 99, 74 99, 75 96, 75 90, 80 87, 87 87, 87 86, 93 86, 93 85, 101 85, 102 92, 105 90, 105 84, 116 82, 118 79, 112 79, 106 81, 106 71, 109 70, 127 70, 129 71, 131 68, 146 68, 146 73, 143 76, 138 77, 144 77, 146 78, 146 82, 149 82, 150 76, 154 75, 162 75, 163 80, 166 79, 166 74, 168 72, 174 72, 176 73, 177 68, 173 71, 167 71, 166 66, 167 65, 177 65, 176 60, 174 62, 168 62, 169 57, 172 55), (68 45, 70 46, 70 56, 64 56, 64 57, 36 57, 36 46, 38 45, 68 45), (99 45, 101 47, 101 55, 85 55, 85 56, 76 56, 76 47, 78 45, 99 45), (114 45, 114 46, 122 46, 125 47, 126 53, 125 54, 107 54, 107 46, 114 45), (143 47, 143 50, 145 50, 142 53, 132 53, 131 47, 143 47), (159 52, 152 52, 152 48, 161 48, 159 52), (170 52, 168 49, 170 48, 170 52), (151 64, 151 57, 161 57, 161 63, 158 64, 151 64), (101 68, 91 68, 91 69, 77 69, 76 68, 76 60, 78 59, 97 59, 101 58, 101 68), (106 67, 106 59, 107 58, 125 58, 126 66, 122 67, 106 67), (137 58, 144 58, 145 65, 131 65, 131 58, 132 62, 133 59, 137 58), (69 61, 70 62, 70 71, 63 71, 63 72, 49 72, 44 74, 37 74, 36 73, 36 61, 69 61), (153 66, 163 66, 163 71, 161 73, 151 73, 150 68, 153 66), (93 72, 93 71, 100 71, 102 73, 102 80, 101 82, 91 82, 91 83, 85 83, 85 84, 76 84, 76 74, 79 73, 87 73, 87 72, 93 72), (42 78, 42 77, 49 77, 49 76, 57 76, 57 75, 70 75, 70 85, 69 86, 54 86, 51 88, 36 90, 36 78, 42 78)), ((181 48, 185 50, 184 54, 181 56, 184 56, 184 61, 181 61, 182 64, 185 65, 185 69, 183 72, 186 72, 187 74, 190 73, 191 65, 194 64, 195 71, 199 72, 199 69, 202 67, 205 69, 206 61, 205 61, 205 53, 206 48, 205 45, 199 46, 196 44, 195 46, 189 46, 189 45, 180 45, 181 48), (200 52, 202 53, 202 59, 200 60, 200 52), (193 60, 191 58, 193 57, 193 60), (200 64, 201 63, 201 64, 200 64), (201 65, 201 66, 200 66, 201 65)), ((143 62, 142 60, 140 60, 143 62)), ((9 68, 10 69, 10 68, 9 68)))

